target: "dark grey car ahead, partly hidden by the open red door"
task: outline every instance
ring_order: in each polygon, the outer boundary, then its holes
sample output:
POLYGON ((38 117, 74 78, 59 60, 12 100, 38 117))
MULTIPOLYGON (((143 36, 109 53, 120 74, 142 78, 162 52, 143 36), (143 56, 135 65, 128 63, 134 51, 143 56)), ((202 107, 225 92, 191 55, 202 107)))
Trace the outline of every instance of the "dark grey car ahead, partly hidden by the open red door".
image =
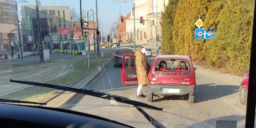
POLYGON ((119 47, 116 48, 114 54, 114 67, 122 65, 123 62, 123 54, 134 54, 132 48, 128 47, 119 47))

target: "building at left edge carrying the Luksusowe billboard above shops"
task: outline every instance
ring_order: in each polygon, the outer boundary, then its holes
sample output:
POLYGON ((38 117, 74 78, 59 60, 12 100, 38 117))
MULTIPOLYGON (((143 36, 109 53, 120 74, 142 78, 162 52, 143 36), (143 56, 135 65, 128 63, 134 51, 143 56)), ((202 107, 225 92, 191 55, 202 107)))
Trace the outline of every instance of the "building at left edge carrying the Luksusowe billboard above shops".
MULTIPOLYGON (((11 1, 11 0, 10 0, 11 1)), ((16 47, 17 38, 17 14, 15 1, 5 2, 0 0, 0 52, 9 53, 11 46, 16 47)))

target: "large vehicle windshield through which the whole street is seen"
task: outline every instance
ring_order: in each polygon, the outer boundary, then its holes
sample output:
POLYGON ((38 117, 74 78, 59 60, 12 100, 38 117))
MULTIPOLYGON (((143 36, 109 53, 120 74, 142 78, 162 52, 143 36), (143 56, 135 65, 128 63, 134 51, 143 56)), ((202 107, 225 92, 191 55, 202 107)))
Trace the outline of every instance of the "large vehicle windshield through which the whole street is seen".
POLYGON ((155 127, 138 106, 10 79, 86 87, 163 108, 141 107, 168 128, 243 128, 254 2, 0 0, 0 99, 155 127))

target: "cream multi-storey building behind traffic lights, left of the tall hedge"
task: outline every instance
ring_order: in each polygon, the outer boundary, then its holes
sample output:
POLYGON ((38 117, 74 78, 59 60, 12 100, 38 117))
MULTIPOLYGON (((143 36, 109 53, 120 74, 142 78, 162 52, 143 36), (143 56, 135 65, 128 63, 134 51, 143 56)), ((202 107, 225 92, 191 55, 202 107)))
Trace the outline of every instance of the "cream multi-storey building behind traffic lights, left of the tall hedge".
MULTIPOLYGON (((131 8, 130 19, 151 20, 157 26, 157 34, 161 36, 161 12, 164 11, 164 6, 167 6, 168 0, 134 0, 135 9, 131 8)), ((136 41, 155 39, 156 27, 149 21, 141 24, 139 20, 135 20, 135 36, 136 41)), ((126 37, 129 37, 129 42, 134 41, 134 21, 126 21, 126 37)))

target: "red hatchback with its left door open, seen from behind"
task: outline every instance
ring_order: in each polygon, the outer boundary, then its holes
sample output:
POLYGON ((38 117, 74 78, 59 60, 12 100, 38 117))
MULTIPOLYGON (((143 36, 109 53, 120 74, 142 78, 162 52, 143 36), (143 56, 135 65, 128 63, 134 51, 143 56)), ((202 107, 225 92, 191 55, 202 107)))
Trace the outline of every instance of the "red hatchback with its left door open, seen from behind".
MULTIPOLYGON (((195 70, 189 56, 158 55, 149 66, 148 101, 153 96, 188 95, 189 103, 194 102, 196 79, 195 70)), ((135 55, 124 55, 121 70, 123 85, 138 85, 136 74, 135 55)))

